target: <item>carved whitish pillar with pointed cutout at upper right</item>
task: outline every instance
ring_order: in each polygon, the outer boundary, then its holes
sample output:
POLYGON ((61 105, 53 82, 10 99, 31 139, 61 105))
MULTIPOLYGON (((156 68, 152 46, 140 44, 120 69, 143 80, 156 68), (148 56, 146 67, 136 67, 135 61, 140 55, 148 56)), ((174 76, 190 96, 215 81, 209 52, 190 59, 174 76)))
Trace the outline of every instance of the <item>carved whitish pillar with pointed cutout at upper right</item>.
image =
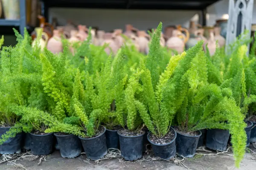
POLYGON ((226 50, 239 34, 249 30, 245 36, 250 38, 253 19, 253 0, 229 0, 229 19, 227 21, 226 50))

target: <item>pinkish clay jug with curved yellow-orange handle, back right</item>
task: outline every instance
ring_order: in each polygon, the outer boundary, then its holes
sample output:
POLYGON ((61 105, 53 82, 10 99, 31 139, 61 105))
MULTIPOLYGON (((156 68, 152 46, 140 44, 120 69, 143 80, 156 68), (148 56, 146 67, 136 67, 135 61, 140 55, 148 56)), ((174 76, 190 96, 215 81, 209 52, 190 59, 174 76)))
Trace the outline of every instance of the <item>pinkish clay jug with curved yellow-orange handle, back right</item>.
POLYGON ((172 37, 166 42, 167 48, 176 50, 179 54, 184 51, 185 43, 189 40, 189 31, 186 28, 180 26, 172 31, 172 37), (186 35, 181 31, 185 31, 186 35))

